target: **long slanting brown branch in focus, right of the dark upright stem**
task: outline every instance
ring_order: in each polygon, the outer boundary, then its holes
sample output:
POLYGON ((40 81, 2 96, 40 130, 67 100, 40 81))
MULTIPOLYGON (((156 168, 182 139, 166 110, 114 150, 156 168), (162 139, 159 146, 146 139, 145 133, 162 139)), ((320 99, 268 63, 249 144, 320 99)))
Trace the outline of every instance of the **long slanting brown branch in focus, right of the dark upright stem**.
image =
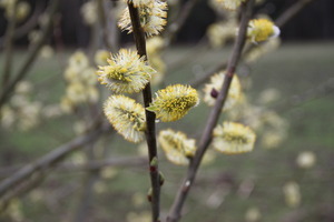
POLYGON ((253 4, 254 4, 254 0, 249 0, 242 4, 242 20, 240 20, 239 31, 238 31, 238 36, 237 36, 237 39, 234 44, 232 57, 230 57, 228 65, 227 65, 227 71, 226 71, 224 83, 222 85, 222 90, 218 94, 215 107, 213 108, 210 115, 208 118, 208 121, 206 123, 205 130, 204 130, 203 135, 199 141, 198 150, 196 151, 196 154, 195 154, 193 161, 190 162, 187 175, 186 175, 180 189, 178 190, 176 199, 171 205, 169 215, 167 218, 168 222, 179 221, 185 200, 186 200, 188 192, 195 181, 195 176, 197 174, 197 170, 199 168, 199 164, 202 162, 204 153, 206 152, 206 150, 212 141, 213 130, 216 127, 218 118, 222 113, 222 109, 224 108, 224 103, 227 98, 227 93, 228 93, 229 85, 230 85, 230 82, 234 77, 234 72, 236 70, 237 63, 242 56, 243 48, 245 46, 247 26, 248 26, 250 16, 252 16, 253 4))

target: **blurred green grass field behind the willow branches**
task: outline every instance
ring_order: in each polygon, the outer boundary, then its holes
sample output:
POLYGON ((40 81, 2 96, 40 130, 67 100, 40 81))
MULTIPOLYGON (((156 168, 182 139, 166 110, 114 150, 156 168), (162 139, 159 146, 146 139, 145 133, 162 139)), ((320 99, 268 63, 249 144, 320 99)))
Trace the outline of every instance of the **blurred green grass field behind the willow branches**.
MULTIPOLYGON (((261 221, 283 221, 288 213, 305 210, 310 212, 303 222, 326 221, 314 219, 320 212, 314 209, 334 209, 333 171, 334 158, 334 94, 333 71, 334 51, 333 43, 299 43, 284 44, 276 52, 265 56, 252 65, 252 88, 246 93, 250 103, 255 103, 259 93, 268 88, 279 90, 279 113, 289 123, 288 137, 274 150, 265 150, 259 143, 254 152, 243 155, 223 155, 216 153, 214 164, 200 170, 198 182, 191 190, 185 208, 184 222, 193 221, 245 221, 244 215, 248 208, 257 206, 262 212, 261 221), (330 80, 332 78, 332 85, 330 80), (289 104, 291 98, 303 98, 310 89, 322 92, 322 85, 326 83, 327 93, 317 93, 316 97, 297 104, 289 104), (328 87, 330 85, 330 87, 328 87), (283 107, 282 107, 283 105, 283 107), (311 170, 299 170, 295 165, 295 159, 301 151, 314 151, 317 155, 316 165, 311 170), (227 180, 228 179, 228 180, 227 180), (228 183, 227 181, 233 181, 228 183), (238 192, 240 183, 252 181, 254 190, 249 196, 242 196, 238 192), (282 185, 287 181, 297 181, 302 191, 302 205, 294 210, 285 205, 282 185), (223 200, 222 204, 208 205, 209 196, 216 195, 223 200)), ((166 60, 169 64, 188 54, 188 47, 173 48, 167 51, 166 60)), ((219 61, 225 61, 228 50, 208 51, 197 53, 194 60, 169 72, 167 83, 186 83, 196 78, 200 70, 209 69, 219 61)), ((20 53, 21 54, 21 53, 20 53)), ((17 54, 18 63, 22 57, 17 54)), ((65 83, 61 79, 61 70, 68 52, 58 56, 57 62, 40 61, 30 71, 29 80, 38 87, 35 98, 45 103, 55 103, 63 93, 65 83), (60 58, 60 59, 59 59, 60 58), (55 83, 56 82, 56 83, 55 83)), ((0 57, 0 62, 2 58, 0 57)), ((238 73, 244 73, 240 68, 238 73)), ((202 91, 202 89, 200 89, 202 91)), ((203 131, 209 110, 202 102, 196 109, 180 121, 173 123, 158 123, 158 129, 173 128, 184 130, 191 137, 199 137, 203 131)), ((62 142, 73 137, 72 117, 48 120, 28 132, 1 130, 1 163, 21 164, 36 160, 62 142)), ((261 135, 258 135, 261 138, 261 135)), ((107 155, 127 154, 136 152, 136 145, 124 142, 120 135, 108 138, 105 143, 107 155)), ((180 183, 186 168, 171 165, 166 161, 161 151, 160 170, 166 176, 163 186, 163 214, 174 199, 176 189, 180 183)), ((48 195, 46 200, 56 196, 53 205, 42 200, 35 203, 29 195, 22 198, 22 209, 27 220, 35 222, 58 222, 70 218, 78 203, 78 195, 82 186, 85 174, 50 174, 43 182, 41 190, 48 195), (75 188, 75 189, 73 189, 75 188), (53 191, 53 192, 52 192, 53 191), (56 193, 68 192, 66 200, 58 200, 56 193), (31 204, 35 206, 31 208, 31 204)), ((92 221, 125 221, 129 211, 149 210, 149 205, 134 206, 131 196, 140 192, 146 195, 149 185, 147 172, 143 169, 120 169, 116 178, 100 180, 106 183, 107 191, 96 193, 94 205, 89 216, 92 221)), ((0 220, 1 221, 1 220, 0 220)))

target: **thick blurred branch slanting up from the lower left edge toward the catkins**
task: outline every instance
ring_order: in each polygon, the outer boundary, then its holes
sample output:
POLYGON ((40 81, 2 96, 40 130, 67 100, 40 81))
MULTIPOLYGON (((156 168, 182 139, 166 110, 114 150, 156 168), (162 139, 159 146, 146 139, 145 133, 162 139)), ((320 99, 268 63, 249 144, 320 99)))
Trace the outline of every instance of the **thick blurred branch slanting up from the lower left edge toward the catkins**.
POLYGON ((26 179, 29 179, 35 172, 49 169, 51 165, 61 161, 66 155, 81 148, 84 144, 97 140, 102 132, 109 130, 106 125, 96 125, 96 128, 91 129, 87 134, 80 135, 70 142, 55 149, 53 151, 47 153, 45 157, 39 160, 24 165, 19 171, 13 173, 11 176, 4 179, 0 183, 0 196, 2 196, 7 191, 11 190, 26 179))

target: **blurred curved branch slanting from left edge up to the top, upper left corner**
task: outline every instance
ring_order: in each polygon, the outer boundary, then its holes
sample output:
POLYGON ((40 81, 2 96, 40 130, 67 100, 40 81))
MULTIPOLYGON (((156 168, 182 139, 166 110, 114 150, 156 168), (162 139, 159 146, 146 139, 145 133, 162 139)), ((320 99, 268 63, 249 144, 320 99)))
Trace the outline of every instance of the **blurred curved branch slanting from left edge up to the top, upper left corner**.
POLYGON ((37 42, 33 46, 33 49, 31 50, 30 54, 28 54, 27 60, 23 62, 22 67, 19 69, 18 74, 14 77, 14 79, 9 82, 3 90, 1 91, 0 95, 0 109, 6 103, 6 101, 10 98, 11 93, 13 92, 16 85, 26 77, 29 69, 33 64, 35 60, 37 59, 39 51, 41 50, 42 46, 47 41, 51 29, 52 29, 52 18, 55 17, 57 10, 58 10, 59 0, 53 0, 50 6, 50 19, 48 20, 48 24, 43 31, 43 34, 39 42, 37 42))

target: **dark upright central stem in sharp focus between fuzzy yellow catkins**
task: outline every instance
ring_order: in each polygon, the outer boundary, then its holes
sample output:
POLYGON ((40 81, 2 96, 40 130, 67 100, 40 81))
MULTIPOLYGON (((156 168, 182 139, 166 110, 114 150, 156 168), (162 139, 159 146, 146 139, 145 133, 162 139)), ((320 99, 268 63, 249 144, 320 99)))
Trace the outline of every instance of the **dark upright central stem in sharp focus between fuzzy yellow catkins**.
MULTIPOLYGON (((145 33, 140 26, 140 18, 138 13, 138 9, 134 7, 134 4, 128 1, 131 23, 132 23, 132 32, 137 47, 137 52, 139 57, 144 57, 147 59, 146 54, 146 41, 145 33)), ((144 104, 145 108, 149 107, 151 103, 151 89, 150 83, 148 83, 143 90, 144 104)), ((159 222, 159 213, 160 213, 160 183, 159 183, 159 170, 158 170, 158 153, 157 153, 157 141, 156 141, 156 114, 148 110, 145 110, 146 114, 146 124, 147 129, 145 131, 147 147, 148 147, 148 161, 150 165, 150 182, 151 182, 151 215, 154 222, 159 222), (154 167, 151 165, 155 162, 154 167)))

